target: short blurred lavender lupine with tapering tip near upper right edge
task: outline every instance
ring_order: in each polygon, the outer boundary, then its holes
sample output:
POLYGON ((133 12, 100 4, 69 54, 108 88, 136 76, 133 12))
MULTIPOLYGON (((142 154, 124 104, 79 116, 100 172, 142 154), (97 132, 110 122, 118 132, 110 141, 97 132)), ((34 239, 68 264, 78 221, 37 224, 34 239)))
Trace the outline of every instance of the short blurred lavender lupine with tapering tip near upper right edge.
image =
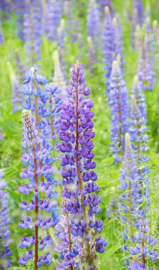
POLYGON ((150 50, 147 50, 148 41, 143 35, 141 41, 141 55, 138 61, 138 79, 141 84, 141 89, 150 91, 153 90, 155 84, 155 72, 153 68, 152 58, 149 55, 150 50))

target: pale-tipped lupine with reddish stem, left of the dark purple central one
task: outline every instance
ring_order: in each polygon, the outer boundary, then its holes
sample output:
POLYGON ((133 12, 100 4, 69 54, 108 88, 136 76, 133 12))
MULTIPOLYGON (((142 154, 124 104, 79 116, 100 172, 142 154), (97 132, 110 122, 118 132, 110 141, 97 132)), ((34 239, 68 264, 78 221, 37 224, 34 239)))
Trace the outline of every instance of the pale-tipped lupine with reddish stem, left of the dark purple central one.
MULTIPOLYGON (((45 255, 40 255, 39 257, 38 249, 43 250, 46 246, 48 249, 51 244, 53 244, 53 239, 48 235, 39 242, 38 231, 39 229, 48 230, 55 225, 55 219, 51 217, 53 208, 56 205, 56 202, 52 199, 53 186, 50 181, 53 168, 46 163, 48 151, 40 148, 38 130, 35 128, 35 123, 31 120, 27 110, 23 110, 23 126, 23 148, 26 148, 26 153, 23 154, 22 161, 25 165, 28 164, 28 169, 23 170, 21 177, 32 178, 34 189, 32 190, 31 185, 28 184, 21 185, 19 192, 27 196, 33 192, 33 198, 31 202, 23 200, 20 204, 20 208, 26 212, 34 210, 35 214, 33 215, 34 217, 26 216, 22 218, 19 227, 21 227, 21 229, 34 229, 35 234, 33 234, 32 237, 22 237, 19 247, 25 249, 26 247, 31 247, 33 244, 35 245, 34 262, 35 269, 38 269, 42 264, 49 265, 52 263, 52 255, 50 252, 47 251, 45 255), (31 151, 27 153, 28 148, 30 148, 31 151), (43 161, 42 168, 40 166, 41 160, 43 161), (39 182, 38 178, 42 174, 46 181, 43 178, 41 182, 39 182), (41 211, 40 214, 39 211, 41 211), (44 211, 50 213, 50 216, 46 217, 44 211)), ((43 233, 41 236, 44 236, 43 233)), ((25 265, 28 260, 33 260, 33 252, 31 249, 28 251, 28 254, 21 255, 19 264, 25 265)))

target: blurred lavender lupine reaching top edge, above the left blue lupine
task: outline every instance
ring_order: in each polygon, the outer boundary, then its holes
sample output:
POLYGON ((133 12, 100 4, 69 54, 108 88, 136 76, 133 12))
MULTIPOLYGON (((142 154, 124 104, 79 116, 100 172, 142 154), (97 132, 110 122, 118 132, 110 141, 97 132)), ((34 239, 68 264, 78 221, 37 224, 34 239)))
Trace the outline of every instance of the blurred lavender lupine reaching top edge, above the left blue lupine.
POLYGON ((41 5, 37 1, 26 5, 24 13, 24 23, 23 23, 23 36, 24 43, 26 46, 26 54, 29 55, 32 65, 35 64, 37 60, 40 60, 41 51, 41 5))

